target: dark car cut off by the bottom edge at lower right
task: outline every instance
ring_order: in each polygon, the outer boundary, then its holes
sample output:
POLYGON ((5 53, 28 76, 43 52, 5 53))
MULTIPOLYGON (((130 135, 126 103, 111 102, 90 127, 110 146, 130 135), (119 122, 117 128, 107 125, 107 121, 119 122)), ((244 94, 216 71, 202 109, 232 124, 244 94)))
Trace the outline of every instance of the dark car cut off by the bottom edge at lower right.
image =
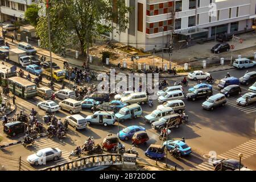
POLYGON ((234 171, 239 168, 246 168, 243 166, 242 163, 240 163, 239 160, 235 159, 220 159, 220 160, 215 160, 213 162, 214 171, 226 171, 226 170, 231 170, 234 171))

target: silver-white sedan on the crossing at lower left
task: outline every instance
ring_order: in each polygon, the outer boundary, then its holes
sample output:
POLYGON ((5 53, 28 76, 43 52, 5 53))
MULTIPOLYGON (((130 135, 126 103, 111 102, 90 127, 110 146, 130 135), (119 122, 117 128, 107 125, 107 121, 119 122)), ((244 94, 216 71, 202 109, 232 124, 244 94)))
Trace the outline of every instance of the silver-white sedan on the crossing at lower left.
POLYGON ((39 164, 46 164, 50 160, 58 160, 61 157, 61 150, 59 148, 43 148, 35 154, 27 156, 27 162, 31 165, 38 166, 39 164))

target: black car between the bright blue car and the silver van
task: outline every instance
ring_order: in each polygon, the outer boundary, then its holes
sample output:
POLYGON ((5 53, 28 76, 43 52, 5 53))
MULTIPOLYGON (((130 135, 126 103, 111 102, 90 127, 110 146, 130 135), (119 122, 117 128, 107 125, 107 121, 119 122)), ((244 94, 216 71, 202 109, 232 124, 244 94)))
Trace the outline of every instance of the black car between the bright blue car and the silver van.
POLYGON ((187 100, 195 101, 198 98, 209 98, 212 96, 212 89, 210 88, 201 88, 195 89, 193 92, 189 92, 186 94, 187 100))

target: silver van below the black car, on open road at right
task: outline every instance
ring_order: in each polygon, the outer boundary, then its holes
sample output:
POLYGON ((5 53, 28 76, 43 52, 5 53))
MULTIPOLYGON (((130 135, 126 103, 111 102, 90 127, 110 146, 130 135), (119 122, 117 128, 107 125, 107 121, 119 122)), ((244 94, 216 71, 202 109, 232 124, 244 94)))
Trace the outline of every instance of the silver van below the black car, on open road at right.
POLYGON ((226 97, 222 93, 215 94, 214 96, 211 96, 205 101, 202 106, 203 109, 207 110, 213 110, 214 107, 217 106, 224 106, 226 104, 226 97))

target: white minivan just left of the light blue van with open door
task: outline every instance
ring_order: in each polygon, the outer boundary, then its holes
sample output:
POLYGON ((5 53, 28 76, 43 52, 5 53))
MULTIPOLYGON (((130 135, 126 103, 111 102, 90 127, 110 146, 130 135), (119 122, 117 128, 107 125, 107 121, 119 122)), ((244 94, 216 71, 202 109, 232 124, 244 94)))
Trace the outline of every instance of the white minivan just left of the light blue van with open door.
POLYGON ((75 130, 81 130, 87 128, 87 122, 80 114, 69 115, 66 117, 69 125, 73 126, 75 130))

